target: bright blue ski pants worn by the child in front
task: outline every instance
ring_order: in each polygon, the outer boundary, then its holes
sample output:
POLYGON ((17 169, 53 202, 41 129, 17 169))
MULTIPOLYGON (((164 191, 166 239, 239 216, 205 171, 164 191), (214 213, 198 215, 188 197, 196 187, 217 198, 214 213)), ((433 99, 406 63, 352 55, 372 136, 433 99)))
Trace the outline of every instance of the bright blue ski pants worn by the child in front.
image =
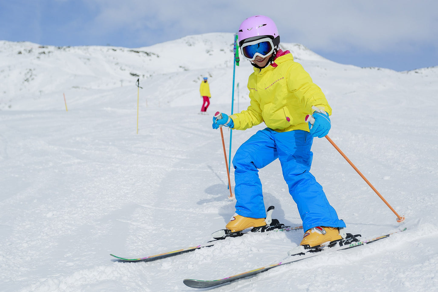
POLYGON ((244 142, 233 157, 236 213, 251 218, 266 217, 258 169, 278 158, 304 231, 316 226, 345 227, 321 185, 309 172, 312 142, 308 132, 276 132, 270 128, 258 131, 244 142))

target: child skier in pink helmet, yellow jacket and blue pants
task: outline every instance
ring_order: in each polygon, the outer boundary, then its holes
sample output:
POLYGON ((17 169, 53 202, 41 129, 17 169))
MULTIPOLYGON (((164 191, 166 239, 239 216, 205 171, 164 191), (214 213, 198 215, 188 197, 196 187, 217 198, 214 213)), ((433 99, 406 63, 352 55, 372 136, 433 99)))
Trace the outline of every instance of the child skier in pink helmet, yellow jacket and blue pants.
POLYGON ((313 138, 324 137, 331 127, 332 109, 324 93, 289 51, 279 49, 280 36, 272 19, 262 15, 245 19, 238 40, 242 55, 254 66, 247 85, 250 106, 238 114, 213 118, 213 128, 245 130, 261 122, 267 128, 255 133, 234 155, 236 213, 226 228, 235 232, 266 225, 258 169, 279 158, 303 221, 300 245, 310 248, 342 239, 339 228, 345 223, 309 172, 313 138), (307 114, 313 116, 313 126, 304 121, 307 114))

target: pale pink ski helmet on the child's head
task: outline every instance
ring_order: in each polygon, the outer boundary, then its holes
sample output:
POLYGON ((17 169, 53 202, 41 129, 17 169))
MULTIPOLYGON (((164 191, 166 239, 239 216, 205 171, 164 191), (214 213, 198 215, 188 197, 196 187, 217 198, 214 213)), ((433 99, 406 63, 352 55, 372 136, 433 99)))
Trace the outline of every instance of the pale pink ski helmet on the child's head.
POLYGON ((271 18, 263 15, 255 15, 245 19, 237 32, 239 46, 246 41, 252 41, 263 36, 272 38, 274 46, 280 43, 277 26, 271 18))

